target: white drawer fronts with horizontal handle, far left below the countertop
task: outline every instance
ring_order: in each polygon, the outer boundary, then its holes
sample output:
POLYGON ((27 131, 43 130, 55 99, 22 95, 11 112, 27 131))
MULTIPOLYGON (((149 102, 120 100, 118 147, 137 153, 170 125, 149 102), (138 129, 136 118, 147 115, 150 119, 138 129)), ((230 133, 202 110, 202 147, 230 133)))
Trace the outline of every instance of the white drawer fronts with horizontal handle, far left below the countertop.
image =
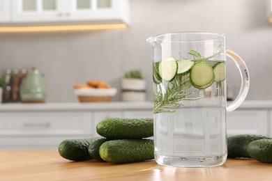
POLYGON ((56 150, 64 139, 93 136, 91 111, 0 113, 1 150, 56 150))

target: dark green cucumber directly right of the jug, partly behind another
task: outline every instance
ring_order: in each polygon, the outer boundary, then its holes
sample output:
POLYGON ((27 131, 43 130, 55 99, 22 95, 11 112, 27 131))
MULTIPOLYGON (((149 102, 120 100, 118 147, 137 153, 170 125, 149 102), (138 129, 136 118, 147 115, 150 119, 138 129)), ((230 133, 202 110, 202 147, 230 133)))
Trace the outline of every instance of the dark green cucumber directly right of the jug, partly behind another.
POLYGON ((269 139, 269 137, 257 134, 230 136, 227 139, 227 157, 250 158, 250 155, 248 155, 248 144, 258 139, 269 139))

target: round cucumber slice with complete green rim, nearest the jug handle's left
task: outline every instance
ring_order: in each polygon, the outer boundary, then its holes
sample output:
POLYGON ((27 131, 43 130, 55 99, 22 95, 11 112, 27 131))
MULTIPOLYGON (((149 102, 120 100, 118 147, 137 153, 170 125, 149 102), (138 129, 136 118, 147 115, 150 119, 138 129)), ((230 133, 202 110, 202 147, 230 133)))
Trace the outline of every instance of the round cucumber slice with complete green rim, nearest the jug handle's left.
POLYGON ((213 68, 204 61, 195 63, 190 70, 190 80, 195 88, 208 88, 214 81, 213 68))

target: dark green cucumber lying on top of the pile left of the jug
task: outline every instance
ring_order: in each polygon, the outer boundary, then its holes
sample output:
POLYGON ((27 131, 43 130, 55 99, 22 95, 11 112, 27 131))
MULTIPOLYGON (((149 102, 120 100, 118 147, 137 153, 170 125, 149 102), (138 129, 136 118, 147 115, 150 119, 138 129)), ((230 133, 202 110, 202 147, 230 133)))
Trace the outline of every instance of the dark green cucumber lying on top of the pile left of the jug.
POLYGON ((107 139, 142 139, 153 136, 153 118, 107 118, 96 125, 107 139))

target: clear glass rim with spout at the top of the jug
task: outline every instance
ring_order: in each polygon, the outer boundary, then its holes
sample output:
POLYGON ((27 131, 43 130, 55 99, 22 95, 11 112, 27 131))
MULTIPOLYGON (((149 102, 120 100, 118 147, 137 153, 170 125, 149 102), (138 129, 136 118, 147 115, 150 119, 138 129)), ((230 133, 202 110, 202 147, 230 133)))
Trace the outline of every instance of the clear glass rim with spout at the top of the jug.
POLYGON ((212 32, 212 31, 176 31, 171 33, 162 33, 154 37, 149 37, 146 39, 146 42, 149 42, 153 44, 155 40, 161 40, 164 42, 202 42, 207 40, 219 40, 224 39, 225 40, 225 33, 219 33, 219 32, 212 32), (165 36, 185 36, 185 35, 203 35, 203 36, 213 36, 213 38, 203 38, 203 39, 194 39, 194 40, 165 40, 165 36))

